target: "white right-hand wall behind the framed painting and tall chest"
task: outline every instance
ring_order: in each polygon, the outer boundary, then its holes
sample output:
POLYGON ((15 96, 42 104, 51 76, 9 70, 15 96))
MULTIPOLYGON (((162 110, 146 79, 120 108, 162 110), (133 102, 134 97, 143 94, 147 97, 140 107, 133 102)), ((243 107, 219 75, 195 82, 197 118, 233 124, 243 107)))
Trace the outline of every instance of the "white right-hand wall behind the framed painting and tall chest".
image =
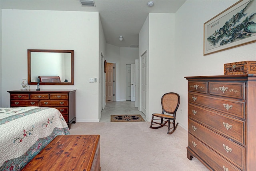
POLYGON ((210 20, 237 0, 186 1, 175 14, 175 83, 173 89, 180 94, 177 120, 187 129, 188 83, 184 76, 224 75, 224 64, 256 60, 256 43, 203 56, 204 22, 210 20))

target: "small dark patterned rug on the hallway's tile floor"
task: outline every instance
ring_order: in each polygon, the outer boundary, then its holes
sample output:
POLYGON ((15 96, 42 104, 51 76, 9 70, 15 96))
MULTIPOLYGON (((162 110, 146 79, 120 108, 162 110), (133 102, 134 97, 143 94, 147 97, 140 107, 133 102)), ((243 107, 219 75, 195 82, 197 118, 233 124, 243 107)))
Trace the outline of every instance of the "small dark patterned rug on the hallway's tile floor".
POLYGON ((111 122, 143 122, 141 115, 110 115, 111 122))

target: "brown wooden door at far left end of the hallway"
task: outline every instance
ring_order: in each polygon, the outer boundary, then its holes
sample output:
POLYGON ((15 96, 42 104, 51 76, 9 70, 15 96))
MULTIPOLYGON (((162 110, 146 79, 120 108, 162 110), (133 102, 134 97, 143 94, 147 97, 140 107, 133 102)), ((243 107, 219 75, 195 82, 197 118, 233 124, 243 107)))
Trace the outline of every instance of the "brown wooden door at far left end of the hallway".
POLYGON ((114 64, 107 63, 106 100, 114 101, 114 64))

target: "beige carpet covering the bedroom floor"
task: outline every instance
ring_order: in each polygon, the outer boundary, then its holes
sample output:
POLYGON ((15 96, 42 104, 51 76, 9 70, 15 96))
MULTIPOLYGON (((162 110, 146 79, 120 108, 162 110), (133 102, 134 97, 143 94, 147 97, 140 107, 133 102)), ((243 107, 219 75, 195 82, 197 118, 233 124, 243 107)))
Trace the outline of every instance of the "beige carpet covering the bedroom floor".
POLYGON ((150 122, 77 122, 70 133, 100 135, 101 171, 208 171, 187 158, 187 131, 150 129, 150 122))

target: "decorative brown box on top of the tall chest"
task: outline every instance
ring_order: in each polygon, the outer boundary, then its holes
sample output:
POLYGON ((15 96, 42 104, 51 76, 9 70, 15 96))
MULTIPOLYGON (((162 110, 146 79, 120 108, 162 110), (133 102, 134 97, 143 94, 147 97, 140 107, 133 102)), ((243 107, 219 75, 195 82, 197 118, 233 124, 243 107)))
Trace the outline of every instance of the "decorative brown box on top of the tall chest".
POLYGON ((256 74, 256 61, 224 64, 224 75, 256 74))

